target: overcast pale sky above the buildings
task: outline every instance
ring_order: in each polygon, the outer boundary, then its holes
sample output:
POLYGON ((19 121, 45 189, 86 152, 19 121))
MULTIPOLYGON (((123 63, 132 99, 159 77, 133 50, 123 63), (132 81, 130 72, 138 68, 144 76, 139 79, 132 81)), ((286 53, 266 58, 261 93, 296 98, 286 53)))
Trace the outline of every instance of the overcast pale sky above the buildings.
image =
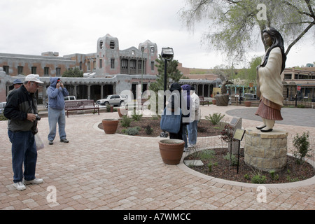
MULTIPOLYGON (((174 49, 174 59, 190 68, 211 69, 227 62, 224 55, 201 45, 199 25, 194 34, 183 26, 179 10, 185 0, 1 0, 0 52, 41 55, 41 52, 93 53, 97 39, 111 34, 120 50, 150 40, 174 49)), ((314 29, 314 28, 313 28, 314 29)), ((314 36, 295 45, 286 66, 315 62, 314 36)), ((263 55, 258 46, 250 55, 263 55)), ((238 66, 236 66, 238 67, 238 66)))

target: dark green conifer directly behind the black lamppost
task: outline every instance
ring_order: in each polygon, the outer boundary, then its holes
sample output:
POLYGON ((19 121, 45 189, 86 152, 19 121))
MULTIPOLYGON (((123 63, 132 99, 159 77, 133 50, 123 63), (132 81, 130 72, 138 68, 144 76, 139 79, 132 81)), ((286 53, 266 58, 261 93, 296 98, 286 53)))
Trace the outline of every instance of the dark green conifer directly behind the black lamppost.
MULTIPOLYGON (((159 55, 155 62, 157 62, 155 66, 158 68, 158 78, 155 83, 151 83, 150 90, 158 92, 158 90, 164 90, 165 60, 159 55)), ((177 66, 179 66, 179 61, 174 59, 167 61, 167 89, 169 89, 170 83, 179 82, 183 76, 181 71, 177 69, 177 66)))

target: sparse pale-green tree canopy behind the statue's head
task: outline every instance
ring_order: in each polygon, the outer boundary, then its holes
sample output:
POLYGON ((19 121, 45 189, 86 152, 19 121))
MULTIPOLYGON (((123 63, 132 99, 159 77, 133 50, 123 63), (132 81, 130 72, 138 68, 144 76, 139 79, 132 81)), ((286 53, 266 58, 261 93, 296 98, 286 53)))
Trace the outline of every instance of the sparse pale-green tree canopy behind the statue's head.
MULTIPOLYGON (((186 0, 180 11, 188 29, 196 22, 209 25, 202 40, 209 48, 241 61, 248 49, 262 41, 266 27, 278 29, 290 49, 307 34, 315 34, 315 0, 186 0)), ((265 43, 262 41, 265 45, 265 43)), ((267 46, 265 45, 265 48, 267 46)))

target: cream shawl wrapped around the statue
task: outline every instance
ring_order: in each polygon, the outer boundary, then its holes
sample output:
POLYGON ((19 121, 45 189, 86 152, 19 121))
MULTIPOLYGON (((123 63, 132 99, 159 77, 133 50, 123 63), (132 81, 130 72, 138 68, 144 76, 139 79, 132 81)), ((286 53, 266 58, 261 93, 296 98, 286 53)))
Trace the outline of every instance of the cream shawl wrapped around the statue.
POLYGON ((281 81, 282 54, 280 48, 274 48, 269 54, 265 67, 258 69, 260 93, 265 99, 283 106, 283 85, 281 81))

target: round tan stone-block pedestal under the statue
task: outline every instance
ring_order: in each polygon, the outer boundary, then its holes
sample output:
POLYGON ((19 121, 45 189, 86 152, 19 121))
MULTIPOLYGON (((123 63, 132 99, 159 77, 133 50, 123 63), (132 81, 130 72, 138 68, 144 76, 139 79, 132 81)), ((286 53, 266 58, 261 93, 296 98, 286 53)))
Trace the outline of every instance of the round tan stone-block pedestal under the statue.
POLYGON ((261 171, 279 171, 286 165, 288 132, 273 130, 260 132, 255 127, 247 129, 244 136, 244 161, 261 171))

